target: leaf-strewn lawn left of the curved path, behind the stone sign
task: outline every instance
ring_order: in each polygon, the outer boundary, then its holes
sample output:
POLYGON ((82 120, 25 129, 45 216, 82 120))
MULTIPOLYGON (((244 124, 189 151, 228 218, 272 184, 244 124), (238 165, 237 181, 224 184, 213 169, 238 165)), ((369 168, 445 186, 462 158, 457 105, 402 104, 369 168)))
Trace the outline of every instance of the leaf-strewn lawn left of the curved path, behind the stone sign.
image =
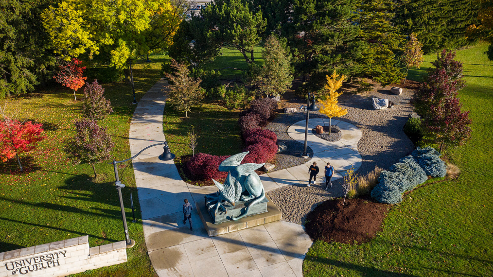
MULTIPOLYGON (((160 78, 164 56, 151 56, 152 63, 139 61, 133 69, 137 100, 160 78)), ((92 82, 92 80, 89 80, 92 82)), ((130 157, 128 130, 135 109, 132 89, 123 82, 103 84, 114 112, 100 125, 108 127, 115 147, 111 158, 130 157)), ((82 98, 82 89, 77 99, 82 98)), ((102 175, 94 180, 90 165, 75 166, 68 161, 63 144, 74 132, 73 121, 81 118, 80 103, 74 103, 71 90, 61 87, 37 90, 13 99, 23 118, 44 124, 46 140, 35 152, 22 155, 28 169, 17 171, 11 159, 0 163, 0 252, 89 235, 90 246, 125 239, 113 167, 96 165, 102 175)), ((108 161, 109 162, 109 161, 108 161)), ((130 237, 136 246, 128 249, 128 262, 74 276, 156 276, 144 243, 141 220, 132 223, 130 193, 140 218, 134 173, 120 169, 130 237)))

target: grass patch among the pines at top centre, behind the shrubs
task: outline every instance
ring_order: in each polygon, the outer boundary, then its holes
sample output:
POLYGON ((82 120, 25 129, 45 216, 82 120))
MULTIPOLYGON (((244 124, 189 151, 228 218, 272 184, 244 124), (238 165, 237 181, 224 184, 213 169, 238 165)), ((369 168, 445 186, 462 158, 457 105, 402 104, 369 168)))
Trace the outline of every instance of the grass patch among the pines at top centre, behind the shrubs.
MULTIPOLYGON (((253 56, 255 57, 255 63, 261 64, 262 60, 262 47, 257 46, 253 49, 253 56)), ((250 58, 250 56, 248 56, 250 58)), ((228 49, 223 47, 221 49, 221 55, 216 57, 213 61, 206 64, 206 70, 219 70, 221 72, 221 78, 224 79, 235 79, 240 78, 243 74, 242 70, 230 69, 248 69, 248 64, 246 63, 243 54, 237 49, 228 49), (228 68, 228 69, 225 69, 228 68)))

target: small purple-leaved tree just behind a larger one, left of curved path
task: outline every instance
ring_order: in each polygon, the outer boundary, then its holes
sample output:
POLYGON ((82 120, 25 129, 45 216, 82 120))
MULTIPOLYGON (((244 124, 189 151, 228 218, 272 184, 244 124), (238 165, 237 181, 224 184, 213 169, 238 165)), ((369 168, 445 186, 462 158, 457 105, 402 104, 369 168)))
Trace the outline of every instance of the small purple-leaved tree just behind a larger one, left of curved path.
POLYGON ((105 98, 104 93, 105 89, 98 84, 98 80, 94 80, 92 84, 86 83, 82 104, 82 111, 86 118, 102 120, 113 112, 111 102, 105 98))

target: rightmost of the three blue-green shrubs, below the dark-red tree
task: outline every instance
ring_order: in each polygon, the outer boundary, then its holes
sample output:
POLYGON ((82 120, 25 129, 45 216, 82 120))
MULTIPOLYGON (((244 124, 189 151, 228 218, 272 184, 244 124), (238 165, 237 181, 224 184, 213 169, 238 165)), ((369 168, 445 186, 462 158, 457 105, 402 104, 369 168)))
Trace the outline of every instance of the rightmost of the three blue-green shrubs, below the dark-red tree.
POLYGON ((425 148, 418 147, 411 155, 416 159, 416 162, 424 170, 426 175, 443 177, 447 173, 445 162, 440 159, 440 153, 434 148, 429 146, 425 148))

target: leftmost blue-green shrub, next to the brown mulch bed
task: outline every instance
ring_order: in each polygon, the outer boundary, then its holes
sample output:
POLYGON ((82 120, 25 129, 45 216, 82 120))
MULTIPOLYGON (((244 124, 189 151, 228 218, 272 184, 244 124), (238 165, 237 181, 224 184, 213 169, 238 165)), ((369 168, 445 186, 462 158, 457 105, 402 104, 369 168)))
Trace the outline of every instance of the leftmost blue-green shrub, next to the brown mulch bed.
POLYGON ((378 184, 371 191, 371 197, 380 203, 397 204, 402 201, 401 187, 409 187, 408 181, 402 174, 382 171, 378 184))

